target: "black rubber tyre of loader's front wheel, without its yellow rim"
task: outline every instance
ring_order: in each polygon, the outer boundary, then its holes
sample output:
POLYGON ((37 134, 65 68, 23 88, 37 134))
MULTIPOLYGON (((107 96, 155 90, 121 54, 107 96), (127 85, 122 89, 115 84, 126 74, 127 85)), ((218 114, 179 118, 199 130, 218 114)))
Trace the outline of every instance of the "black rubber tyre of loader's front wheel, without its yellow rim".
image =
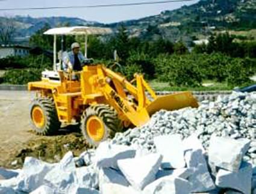
POLYGON ((122 132, 122 129, 122 121, 119 119, 116 110, 109 105, 92 105, 83 112, 81 118, 81 132, 83 133, 87 144, 89 144, 91 147, 97 147, 100 142, 105 141, 108 138, 113 138, 116 132, 122 132), (87 120, 92 116, 99 117, 104 124, 104 136, 101 141, 94 141, 87 134, 86 123, 87 120))

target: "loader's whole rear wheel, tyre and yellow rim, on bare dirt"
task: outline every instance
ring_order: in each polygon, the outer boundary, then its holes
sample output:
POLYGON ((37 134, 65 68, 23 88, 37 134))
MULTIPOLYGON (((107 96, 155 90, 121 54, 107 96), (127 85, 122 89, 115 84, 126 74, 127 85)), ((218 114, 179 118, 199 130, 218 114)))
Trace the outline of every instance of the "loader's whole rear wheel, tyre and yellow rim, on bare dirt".
POLYGON ((48 97, 34 99, 30 105, 30 124, 38 135, 54 135, 61 125, 54 100, 48 97))

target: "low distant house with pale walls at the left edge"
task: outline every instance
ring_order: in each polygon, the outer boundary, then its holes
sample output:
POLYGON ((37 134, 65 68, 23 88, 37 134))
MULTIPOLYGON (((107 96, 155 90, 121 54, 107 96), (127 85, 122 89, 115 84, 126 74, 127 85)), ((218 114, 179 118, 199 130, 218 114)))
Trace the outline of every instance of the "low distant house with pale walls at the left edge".
POLYGON ((30 47, 20 45, 0 45, 0 58, 7 56, 27 56, 30 53, 30 47))

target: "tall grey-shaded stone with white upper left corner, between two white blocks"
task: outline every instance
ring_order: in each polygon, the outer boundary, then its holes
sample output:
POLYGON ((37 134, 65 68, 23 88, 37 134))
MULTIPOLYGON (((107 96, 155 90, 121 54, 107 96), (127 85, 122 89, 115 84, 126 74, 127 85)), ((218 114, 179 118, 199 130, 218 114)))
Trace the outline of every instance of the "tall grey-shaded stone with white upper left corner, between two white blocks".
POLYGON ((193 174, 188 178, 192 184, 192 192, 207 192, 215 189, 202 150, 186 151, 185 160, 188 168, 194 168, 193 174))

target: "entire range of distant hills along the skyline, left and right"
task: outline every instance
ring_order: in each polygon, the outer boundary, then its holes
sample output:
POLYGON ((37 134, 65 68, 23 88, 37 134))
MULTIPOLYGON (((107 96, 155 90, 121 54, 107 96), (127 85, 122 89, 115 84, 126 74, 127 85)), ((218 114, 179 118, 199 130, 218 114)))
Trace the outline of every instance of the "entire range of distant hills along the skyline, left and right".
MULTIPOLYGON (((241 32, 256 29, 256 1, 201 0, 196 4, 163 11, 155 16, 110 24, 90 22, 75 17, 15 16, 13 19, 17 26, 16 37, 29 38, 46 23, 51 28, 68 23, 70 26, 93 25, 113 29, 117 29, 122 23, 131 37, 140 37, 145 40, 156 40, 162 37, 173 42, 182 40, 190 45, 192 40, 206 38, 213 32, 223 30, 241 32)), ((5 18, 0 17, 0 22, 1 20, 5 18)))

